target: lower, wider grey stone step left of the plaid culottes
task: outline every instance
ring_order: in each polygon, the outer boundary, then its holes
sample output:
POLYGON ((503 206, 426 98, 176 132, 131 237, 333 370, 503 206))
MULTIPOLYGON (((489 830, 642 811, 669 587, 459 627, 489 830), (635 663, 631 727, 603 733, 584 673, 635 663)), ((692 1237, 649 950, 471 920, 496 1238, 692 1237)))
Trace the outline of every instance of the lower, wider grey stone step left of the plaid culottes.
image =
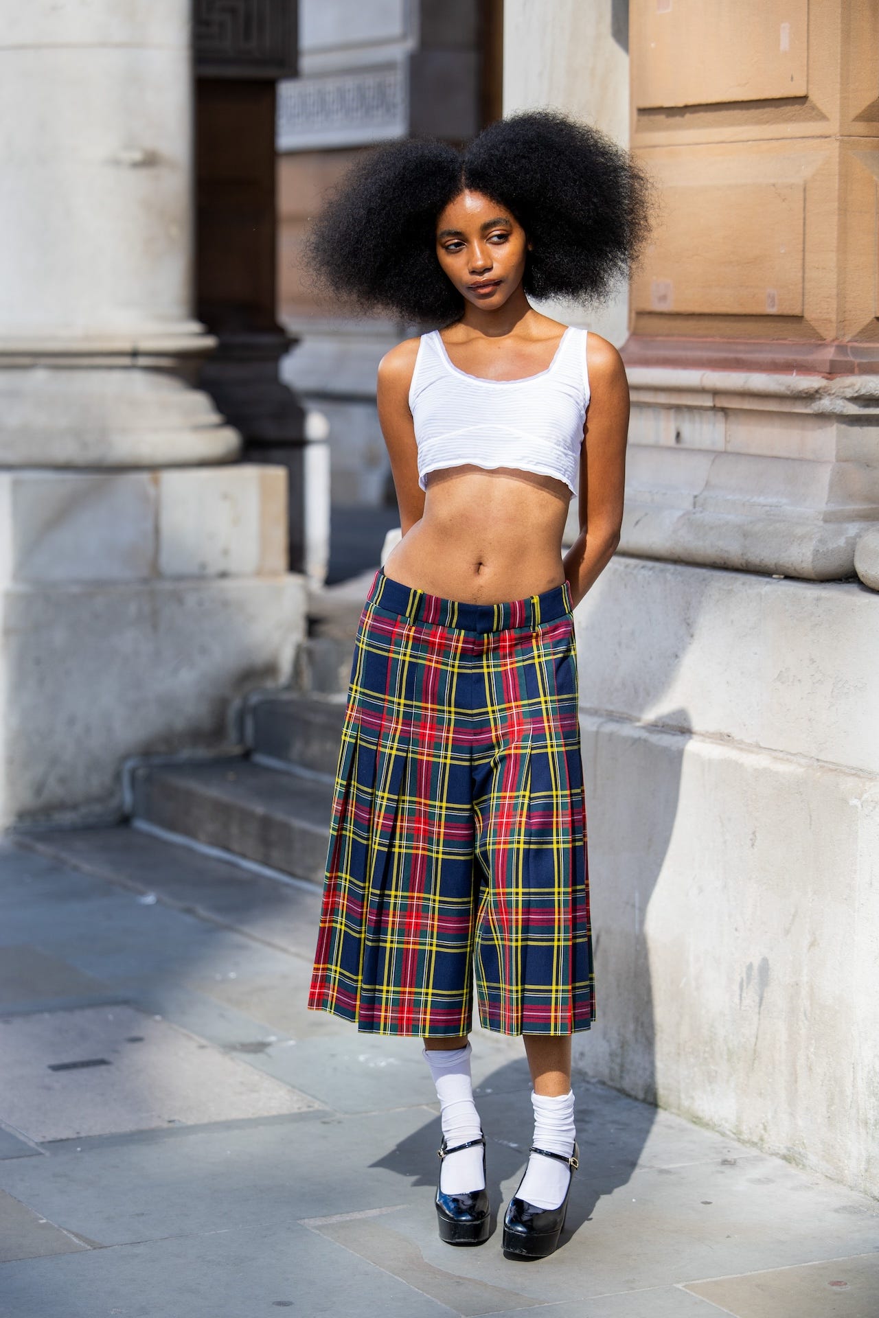
POLYGON ((241 757, 138 764, 133 816, 179 837, 322 883, 332 780, 268 768, 241 757))

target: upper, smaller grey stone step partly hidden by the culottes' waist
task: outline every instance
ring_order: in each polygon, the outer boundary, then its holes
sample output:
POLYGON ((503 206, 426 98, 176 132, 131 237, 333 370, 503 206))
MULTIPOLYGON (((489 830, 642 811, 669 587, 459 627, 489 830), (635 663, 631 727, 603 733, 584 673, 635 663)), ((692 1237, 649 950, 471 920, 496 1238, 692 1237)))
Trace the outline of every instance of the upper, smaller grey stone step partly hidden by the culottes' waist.
POLYGON ((291 692, 253 692, 244 706, 244 745, 253 759, 282 762, 335 780, 345 705, 291 692))

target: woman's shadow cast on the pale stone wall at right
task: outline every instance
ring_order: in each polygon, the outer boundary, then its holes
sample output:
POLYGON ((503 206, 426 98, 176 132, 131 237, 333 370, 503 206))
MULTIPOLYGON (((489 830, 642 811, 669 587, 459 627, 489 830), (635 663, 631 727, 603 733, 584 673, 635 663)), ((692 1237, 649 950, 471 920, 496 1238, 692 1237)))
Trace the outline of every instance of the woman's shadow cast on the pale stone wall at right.
POLYGON ((615 561, 577 608, 596 1020, 575 1037, 575 1060, 594 1078, 655 1103, 648 927, 677 817, 691 717, 659 708, 683 654, 672 643, 680 637, 651 629, 650 601, 638 598, 650 581, 639 567, 615 561))

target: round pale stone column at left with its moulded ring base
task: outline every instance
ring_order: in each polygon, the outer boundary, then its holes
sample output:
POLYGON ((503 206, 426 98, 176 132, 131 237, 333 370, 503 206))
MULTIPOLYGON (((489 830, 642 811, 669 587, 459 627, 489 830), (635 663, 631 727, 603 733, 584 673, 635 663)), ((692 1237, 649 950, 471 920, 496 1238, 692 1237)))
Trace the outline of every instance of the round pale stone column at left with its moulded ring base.
POLYGON ((225 461, 237 434, 188 386, 187 0, 17 5, 0 30, 0 461, 225 461))

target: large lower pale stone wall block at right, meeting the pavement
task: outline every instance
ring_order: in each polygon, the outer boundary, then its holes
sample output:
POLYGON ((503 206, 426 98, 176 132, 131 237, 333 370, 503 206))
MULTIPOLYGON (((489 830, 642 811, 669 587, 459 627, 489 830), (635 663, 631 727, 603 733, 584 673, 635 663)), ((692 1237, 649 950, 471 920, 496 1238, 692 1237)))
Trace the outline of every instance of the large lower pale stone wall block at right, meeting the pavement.
POLYGON ((875 1194, 879 791, 741 745, 582 720, 590 1075, 875 1194))

